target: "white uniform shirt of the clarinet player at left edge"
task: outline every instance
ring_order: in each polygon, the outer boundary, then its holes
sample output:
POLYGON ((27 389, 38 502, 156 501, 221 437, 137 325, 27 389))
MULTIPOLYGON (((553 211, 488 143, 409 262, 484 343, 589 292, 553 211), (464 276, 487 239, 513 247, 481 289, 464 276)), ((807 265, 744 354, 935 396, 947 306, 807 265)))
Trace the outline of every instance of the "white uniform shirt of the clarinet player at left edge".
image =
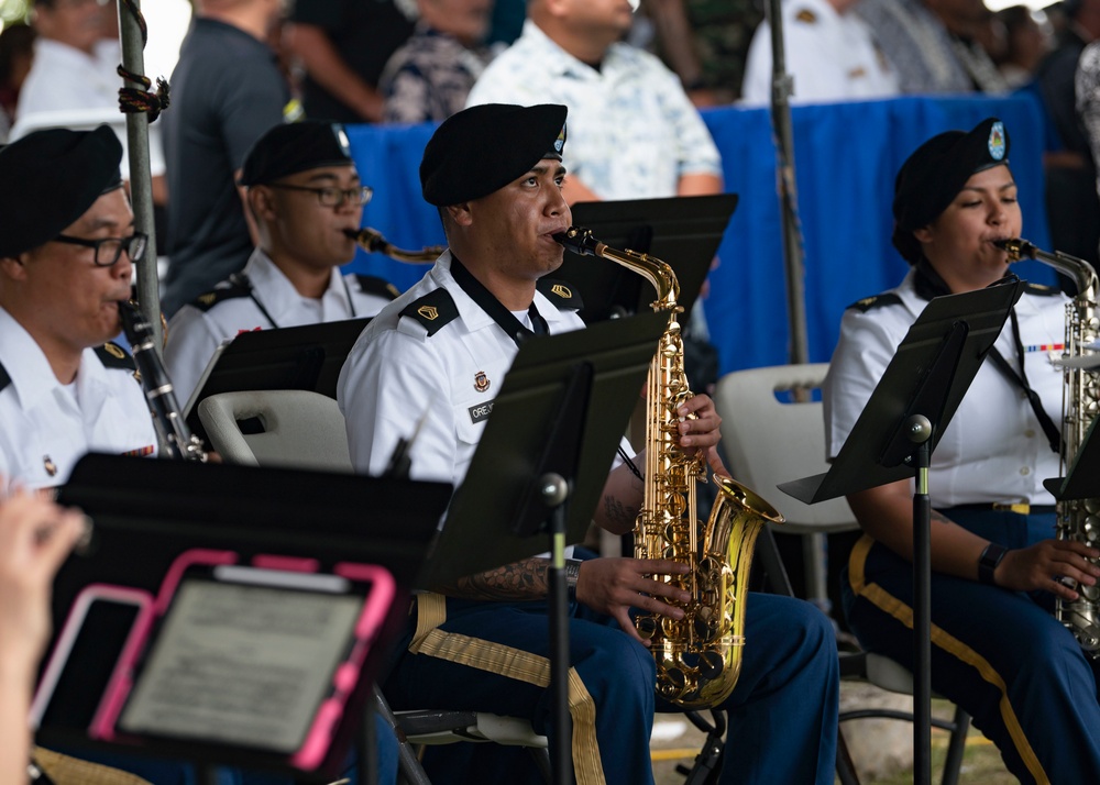
POLYGON ((38 344, 2 308, 0 365, 9 378, 0 388, 0 491, 11 484, 62 485, 87 452, 156 452, 133 369, 105 367, 96 350, 86 349, 76 380, 62 385, 38 344))

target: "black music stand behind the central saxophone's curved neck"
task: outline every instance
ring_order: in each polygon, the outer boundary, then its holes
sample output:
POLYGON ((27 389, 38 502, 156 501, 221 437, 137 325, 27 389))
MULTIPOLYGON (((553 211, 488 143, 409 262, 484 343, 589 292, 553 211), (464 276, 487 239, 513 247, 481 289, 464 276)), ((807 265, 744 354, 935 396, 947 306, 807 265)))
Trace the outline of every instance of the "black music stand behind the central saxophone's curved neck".
MULTIPOLYGON (((613 248, 649 254, 668 262, 680 283, 679 305, 688 316, 722 244, 729 218, 737 208, 736 194, 630 201, 591 201, 573 206, 573 225, 592 230, 592 236, 613 248)), ((581 257, 566 251, 554 273, 581 292, 586 323, 650 310, 652 287, 636 273, 612 262, 581 257)))

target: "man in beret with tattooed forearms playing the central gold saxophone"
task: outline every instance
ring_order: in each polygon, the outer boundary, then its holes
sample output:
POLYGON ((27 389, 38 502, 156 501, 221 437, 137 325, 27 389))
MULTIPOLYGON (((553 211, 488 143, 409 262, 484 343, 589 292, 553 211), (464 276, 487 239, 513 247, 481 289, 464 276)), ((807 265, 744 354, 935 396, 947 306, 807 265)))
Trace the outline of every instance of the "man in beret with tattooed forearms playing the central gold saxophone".
MULTIPOLYGON (((472 421, 471 407, 495 395, 517 342, 583 327, 569 301, 539 286, 562 263, 553 235, 571 220, 561 195, 564 122, 560 106, 486 104, 451 117, 428 143, 420 183, 425 199, 440 208, 449 251, 375 317, 341 373, 338 399, 359 471, 382 473, 397 440, 427 412, 410 452, 411 475, 460 484, 484 428, 472 421)), ((703 450, 712 468, 726 474, 711 399, 696 396, 680 413, 697 417, 681 423, 680 445, 703 450)), ((595 519, 612 532, 629 531, 641 507, 636 465, 644 458, 608 475, 595 519)), ((384 685, 394 706, 492 711, 550 730, 547 566, 528 559, 419 595, 384 685)), ((678 709, 654 700, 653 659, 630 611, 681 616, 664 600, 684 593, 647 576, 683 570, 634 559, 566 567, 575 600, 572 754, 581 785, 652 782, 653 711, 678 709)), ((747 611, 750 643, 723 705, 732 743, 721 782, 832 783, 838 676, 829 622, 785 597, 754 595, 747 611)), ((443 783, 465 772, 431 774, 443 783)))

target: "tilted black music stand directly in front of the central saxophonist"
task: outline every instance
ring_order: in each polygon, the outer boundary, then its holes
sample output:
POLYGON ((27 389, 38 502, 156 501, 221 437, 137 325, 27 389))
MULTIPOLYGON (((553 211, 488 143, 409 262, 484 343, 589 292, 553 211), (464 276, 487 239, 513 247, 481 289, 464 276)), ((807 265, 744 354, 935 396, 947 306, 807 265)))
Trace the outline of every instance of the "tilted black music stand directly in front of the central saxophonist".
POLYGON ((584 539, 667 324, 667 313, 645 313, 520 346, 417 584, 532 556, 549 539, 551 766, 562 785, 572 772, 564 546, 584 539))

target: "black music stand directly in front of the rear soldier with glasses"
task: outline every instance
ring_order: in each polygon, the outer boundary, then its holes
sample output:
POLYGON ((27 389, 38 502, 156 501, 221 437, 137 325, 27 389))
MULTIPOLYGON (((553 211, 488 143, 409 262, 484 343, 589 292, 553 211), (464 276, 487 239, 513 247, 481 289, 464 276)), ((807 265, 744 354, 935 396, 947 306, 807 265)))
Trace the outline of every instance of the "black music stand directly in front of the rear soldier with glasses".
POLYGON ((209 444, 199 402, 219 393, 312 390, 337 397, 340 368, 370 319, 242 332, 218 347, 184 417, 191 433, 209 444))

